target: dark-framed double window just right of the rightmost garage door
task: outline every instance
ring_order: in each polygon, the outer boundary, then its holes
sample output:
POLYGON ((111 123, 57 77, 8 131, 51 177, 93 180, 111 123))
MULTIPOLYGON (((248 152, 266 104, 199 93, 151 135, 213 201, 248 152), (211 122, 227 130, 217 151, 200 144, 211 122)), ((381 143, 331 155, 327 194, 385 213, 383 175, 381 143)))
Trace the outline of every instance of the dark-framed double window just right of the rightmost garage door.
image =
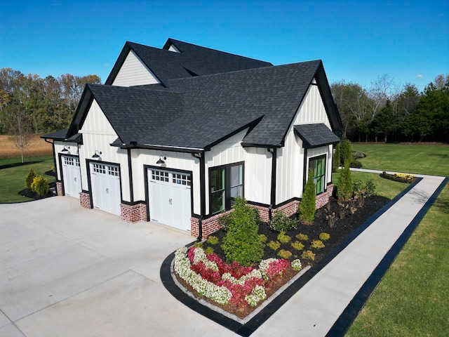
POLYGON ((243 163, 209 169, 210 213, 231 209, 234 198, 243 197, 243 163))

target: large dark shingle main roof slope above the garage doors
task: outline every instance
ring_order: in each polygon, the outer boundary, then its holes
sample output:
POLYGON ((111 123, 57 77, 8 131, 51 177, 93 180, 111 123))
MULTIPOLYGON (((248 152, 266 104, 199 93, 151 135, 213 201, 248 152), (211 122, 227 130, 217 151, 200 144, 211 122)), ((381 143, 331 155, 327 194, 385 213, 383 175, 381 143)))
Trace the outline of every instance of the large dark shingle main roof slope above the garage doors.
POLYGON ((319 67, 316 60, 171 79, 166 89, 93 84, 88 89, 123 144, 205 149, 254 126, 244 144, 279 147, 319 67))

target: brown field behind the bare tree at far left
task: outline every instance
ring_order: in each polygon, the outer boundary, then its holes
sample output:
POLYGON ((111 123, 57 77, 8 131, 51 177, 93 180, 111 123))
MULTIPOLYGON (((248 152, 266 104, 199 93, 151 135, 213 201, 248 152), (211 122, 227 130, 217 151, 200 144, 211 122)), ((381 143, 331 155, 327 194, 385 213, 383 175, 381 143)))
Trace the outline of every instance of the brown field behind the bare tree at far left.
MULTIPOLYGON (((10 136, 1 135, 0 143, 0 159, 13 159, 11 162, 14 162, 16 158, 20 158, 20 150, 15 147, 10 136)), ((25 148, 25 160, 27 160, 27 157, 48 156, 53 153, 52 151, 51 144, 46 143, 39 136, 33 136, 29 141, 29 145, 25 148)), ((3 164, 2 162, 0 165, 3 164)))

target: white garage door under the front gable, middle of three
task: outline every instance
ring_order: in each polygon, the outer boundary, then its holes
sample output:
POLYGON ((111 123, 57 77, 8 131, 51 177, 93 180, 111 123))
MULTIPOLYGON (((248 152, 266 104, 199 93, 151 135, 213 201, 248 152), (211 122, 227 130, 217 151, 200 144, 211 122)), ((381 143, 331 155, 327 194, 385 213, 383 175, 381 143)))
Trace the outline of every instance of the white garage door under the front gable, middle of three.
POLYGON ((120 215, 119 166, 91 163, 91 188, 95 209, 120 215))

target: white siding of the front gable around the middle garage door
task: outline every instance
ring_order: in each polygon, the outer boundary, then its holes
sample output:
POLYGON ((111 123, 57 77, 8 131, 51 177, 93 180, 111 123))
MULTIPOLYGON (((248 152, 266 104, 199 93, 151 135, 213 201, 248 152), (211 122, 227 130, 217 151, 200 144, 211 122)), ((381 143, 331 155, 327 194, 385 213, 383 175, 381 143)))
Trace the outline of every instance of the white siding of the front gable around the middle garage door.
POLYGON ((96 100, 93 100, 86 120, 79 132, 83 134, 83 145, 79 147, 83 189, 87 190, 88 187, 86 159, 92 159, 96 150, 102 152, 98 161, 107 161, 120 165, 121 197, 125 201, 130 201, 128 154, 126 150, 110 145, 118 136, 96 100))

